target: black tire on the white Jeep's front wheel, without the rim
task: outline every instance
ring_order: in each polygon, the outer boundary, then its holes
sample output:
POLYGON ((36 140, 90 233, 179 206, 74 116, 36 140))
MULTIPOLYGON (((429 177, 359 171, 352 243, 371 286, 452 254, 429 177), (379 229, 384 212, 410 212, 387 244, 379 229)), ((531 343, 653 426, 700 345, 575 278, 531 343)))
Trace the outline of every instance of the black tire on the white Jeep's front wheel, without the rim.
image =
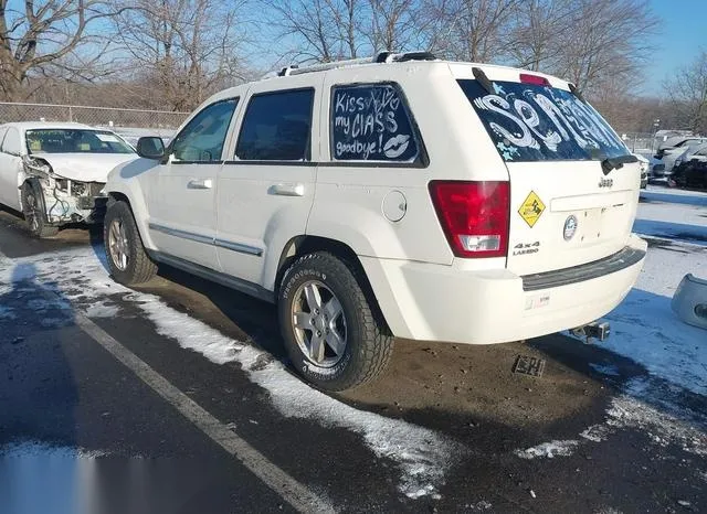
POLYGON ((106 248, 108 269, 116 282, 125 286, 135 286, 149 282, 157 274, 157 265, 145 251, 143 238, 133 217, 133 211, 126 202, 119 201, 108 204, 103 225, 103 242, 106 248), (120 224, 125 231, 124 247, 126 248, 127 263, 124 266, 116 263, 116 258, 110 250, 110 228, 114 223, 120 224))

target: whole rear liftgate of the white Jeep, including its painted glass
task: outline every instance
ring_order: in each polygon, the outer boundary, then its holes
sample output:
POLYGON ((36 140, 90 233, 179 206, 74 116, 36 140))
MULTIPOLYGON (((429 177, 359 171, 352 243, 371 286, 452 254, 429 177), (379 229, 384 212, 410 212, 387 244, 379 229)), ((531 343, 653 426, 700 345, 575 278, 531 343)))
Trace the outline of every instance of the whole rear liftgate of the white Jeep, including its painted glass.
POLYGON ((621 139, 567 84, 508 68, 487 76, 492 90, 474 78, 458 84, 508 169, 508 269, 536 274, 620 251, 641 181, 637 162, 602 169, 630 156, 621 139))

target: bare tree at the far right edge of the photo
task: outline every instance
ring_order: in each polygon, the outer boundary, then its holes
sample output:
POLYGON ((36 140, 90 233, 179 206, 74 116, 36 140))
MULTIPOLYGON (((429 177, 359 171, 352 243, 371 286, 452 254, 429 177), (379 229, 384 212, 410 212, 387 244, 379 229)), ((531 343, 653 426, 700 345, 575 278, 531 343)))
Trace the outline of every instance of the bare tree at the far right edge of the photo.
POLYGON ((707 133, 707 52, 665 84, 665 92, 683 128, 707 133))

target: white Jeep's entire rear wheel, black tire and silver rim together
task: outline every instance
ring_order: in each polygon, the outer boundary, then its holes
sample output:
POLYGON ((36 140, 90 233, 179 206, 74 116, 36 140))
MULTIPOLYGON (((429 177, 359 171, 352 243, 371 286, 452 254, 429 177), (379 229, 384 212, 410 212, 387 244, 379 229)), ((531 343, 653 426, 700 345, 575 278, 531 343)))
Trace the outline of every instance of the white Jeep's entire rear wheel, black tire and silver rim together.
POLYGON ((319 251, 297 259, 278 295, 283 339, 293 365, 315 386, 344 390, 386 370, 393 338, 355 268, 319 251))

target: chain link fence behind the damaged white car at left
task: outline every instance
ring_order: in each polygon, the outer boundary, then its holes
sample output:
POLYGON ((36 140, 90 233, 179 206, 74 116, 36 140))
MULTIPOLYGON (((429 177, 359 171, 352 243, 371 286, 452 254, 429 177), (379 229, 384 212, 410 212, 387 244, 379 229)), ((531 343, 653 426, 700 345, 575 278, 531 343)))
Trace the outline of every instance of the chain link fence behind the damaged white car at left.
POLYGON ((189 113, 120 109, 55 104, 0 103, 0 124, 11 121, 74 121, 124 132, 172 135, 189 113), (137 129, 137 130, 134 130, 137 129))

